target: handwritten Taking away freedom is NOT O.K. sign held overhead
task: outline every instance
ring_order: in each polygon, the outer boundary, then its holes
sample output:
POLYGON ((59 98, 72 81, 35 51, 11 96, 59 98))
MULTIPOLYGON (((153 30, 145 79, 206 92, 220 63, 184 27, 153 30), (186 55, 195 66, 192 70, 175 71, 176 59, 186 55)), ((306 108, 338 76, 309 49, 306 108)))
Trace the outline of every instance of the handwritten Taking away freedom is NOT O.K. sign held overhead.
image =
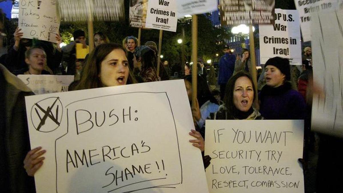
POLYGON ((60 18, 56 0, 20 0, 18 27, 22 29, 22 38, 37 38, 57 43, 60 18))

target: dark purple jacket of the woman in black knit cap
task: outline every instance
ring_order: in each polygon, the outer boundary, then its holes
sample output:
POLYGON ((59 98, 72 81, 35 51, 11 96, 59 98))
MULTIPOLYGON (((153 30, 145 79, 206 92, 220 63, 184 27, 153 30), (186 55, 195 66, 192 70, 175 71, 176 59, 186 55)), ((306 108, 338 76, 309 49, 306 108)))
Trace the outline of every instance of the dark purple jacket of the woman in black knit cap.
POLYGON ((259 93, 260 113, 270 120, 299 120, 306 117, 306 104, 290 83, 271 88, 265 85, 259 93))

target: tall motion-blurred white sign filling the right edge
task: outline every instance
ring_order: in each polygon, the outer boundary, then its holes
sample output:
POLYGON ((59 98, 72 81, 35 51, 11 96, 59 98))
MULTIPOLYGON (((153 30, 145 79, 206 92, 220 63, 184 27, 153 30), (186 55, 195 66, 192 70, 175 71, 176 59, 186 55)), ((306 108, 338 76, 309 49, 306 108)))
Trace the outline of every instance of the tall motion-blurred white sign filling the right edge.
POLYGON ((312 129, 343 137, 343 9, 312 13, 311 18, 313 81, 316 87, 312 102, 312 129))

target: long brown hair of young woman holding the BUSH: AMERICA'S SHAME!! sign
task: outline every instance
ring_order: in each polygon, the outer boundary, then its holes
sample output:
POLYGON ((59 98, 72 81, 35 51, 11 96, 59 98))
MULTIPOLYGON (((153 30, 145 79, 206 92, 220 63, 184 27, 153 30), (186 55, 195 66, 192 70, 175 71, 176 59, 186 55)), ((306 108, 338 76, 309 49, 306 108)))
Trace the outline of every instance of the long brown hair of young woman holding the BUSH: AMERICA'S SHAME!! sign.
MULTIPOLYGON (((125 53, 124 49, 118 44, 100 44, 94 48, 93 52, 90 54, 85 66, 82 70, 81 79, 78 85, 75 86, 75 90, 82 89, 93 89, 103 87, 103 84, 99 78, 99 73, 101 70, 101 62, 105 57, 115 49, 121 49, 125 53)), ((132 77, 131 72, 129 72, 128 84, 135 83, 135 79, 132 77)))

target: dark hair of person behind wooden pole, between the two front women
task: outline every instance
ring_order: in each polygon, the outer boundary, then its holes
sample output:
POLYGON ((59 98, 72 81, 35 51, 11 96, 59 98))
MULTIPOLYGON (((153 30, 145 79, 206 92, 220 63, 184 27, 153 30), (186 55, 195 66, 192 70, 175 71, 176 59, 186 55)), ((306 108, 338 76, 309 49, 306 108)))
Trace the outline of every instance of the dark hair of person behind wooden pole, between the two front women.
MULTIPOLYGON (((184 80, 187 80, 192 84, 192 75, 185 76, 184 80)), ((218 101, 211 94, 207 81, 198 75, 197 81, 197 99, 199 102, 199 107, 201 107, 206 101, 210 101, 215 104, 219 104, 218 101)))

